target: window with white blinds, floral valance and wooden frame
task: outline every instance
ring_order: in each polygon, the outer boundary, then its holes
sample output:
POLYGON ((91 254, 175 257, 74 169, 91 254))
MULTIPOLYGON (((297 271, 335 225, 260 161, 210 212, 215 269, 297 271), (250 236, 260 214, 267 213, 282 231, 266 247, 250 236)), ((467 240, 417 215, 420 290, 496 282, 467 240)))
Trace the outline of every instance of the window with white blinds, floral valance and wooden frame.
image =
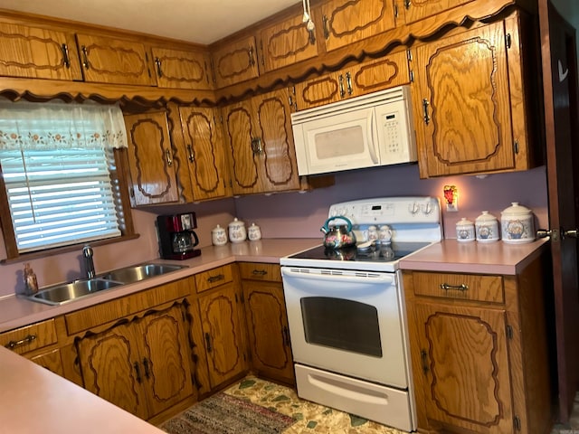
POLYGON ((118 106, 0 103, 0 219, 8 259, 132 235, 117 175, 126 147, 118 106))

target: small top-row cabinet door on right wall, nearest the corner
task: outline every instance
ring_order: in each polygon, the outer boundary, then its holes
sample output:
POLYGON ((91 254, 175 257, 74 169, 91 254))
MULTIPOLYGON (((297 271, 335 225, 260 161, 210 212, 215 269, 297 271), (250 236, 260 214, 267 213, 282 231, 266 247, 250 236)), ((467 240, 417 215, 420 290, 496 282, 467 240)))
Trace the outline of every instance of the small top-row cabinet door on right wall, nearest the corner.
POLYGON ((254 36, 224 43, 212 54, 215 86, 221 89, 258 77, 257 61, 254 36))

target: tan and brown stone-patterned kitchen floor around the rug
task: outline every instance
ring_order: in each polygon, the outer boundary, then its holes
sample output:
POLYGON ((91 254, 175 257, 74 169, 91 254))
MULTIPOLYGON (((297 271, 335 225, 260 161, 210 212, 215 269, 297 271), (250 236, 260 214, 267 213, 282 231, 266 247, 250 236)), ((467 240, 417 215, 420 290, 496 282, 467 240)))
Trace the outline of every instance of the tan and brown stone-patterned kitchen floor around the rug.
MULTIPOLYGON (((247 399, 254 404, 279 411, 294 418, 294 423, 283 434, 331 433, 331 434, 405 434, 403 431, 385 427, 343 411, 330 409, 310 401, 300 400, 289 387, 267 382, 257 377, 246 377, 224 391, 247 399)), ((579 434, 579 393, 575 397, 574 412, 568 426, 555 425, 552 434, 579 434)))

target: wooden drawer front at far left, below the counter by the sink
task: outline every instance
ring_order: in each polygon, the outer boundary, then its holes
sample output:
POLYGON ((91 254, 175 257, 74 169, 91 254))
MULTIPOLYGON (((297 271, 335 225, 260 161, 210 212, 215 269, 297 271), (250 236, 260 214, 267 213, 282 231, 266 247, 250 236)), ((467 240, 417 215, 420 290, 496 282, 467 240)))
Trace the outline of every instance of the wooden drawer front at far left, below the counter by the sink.
POLYGON ((25 325, 0 335, 0 344, 18 354, 28 353, 57 342, 58 336, 56 335, 54 319, 25 325))

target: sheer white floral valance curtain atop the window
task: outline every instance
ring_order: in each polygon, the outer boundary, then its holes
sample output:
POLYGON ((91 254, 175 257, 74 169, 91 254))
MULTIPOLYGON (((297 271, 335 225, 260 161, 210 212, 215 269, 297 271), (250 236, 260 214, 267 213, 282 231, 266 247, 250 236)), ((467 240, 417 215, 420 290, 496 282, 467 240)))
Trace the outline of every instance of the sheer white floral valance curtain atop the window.
POLYGON ((0 101, 0 149, 127 147, 118 105, 0 101))

